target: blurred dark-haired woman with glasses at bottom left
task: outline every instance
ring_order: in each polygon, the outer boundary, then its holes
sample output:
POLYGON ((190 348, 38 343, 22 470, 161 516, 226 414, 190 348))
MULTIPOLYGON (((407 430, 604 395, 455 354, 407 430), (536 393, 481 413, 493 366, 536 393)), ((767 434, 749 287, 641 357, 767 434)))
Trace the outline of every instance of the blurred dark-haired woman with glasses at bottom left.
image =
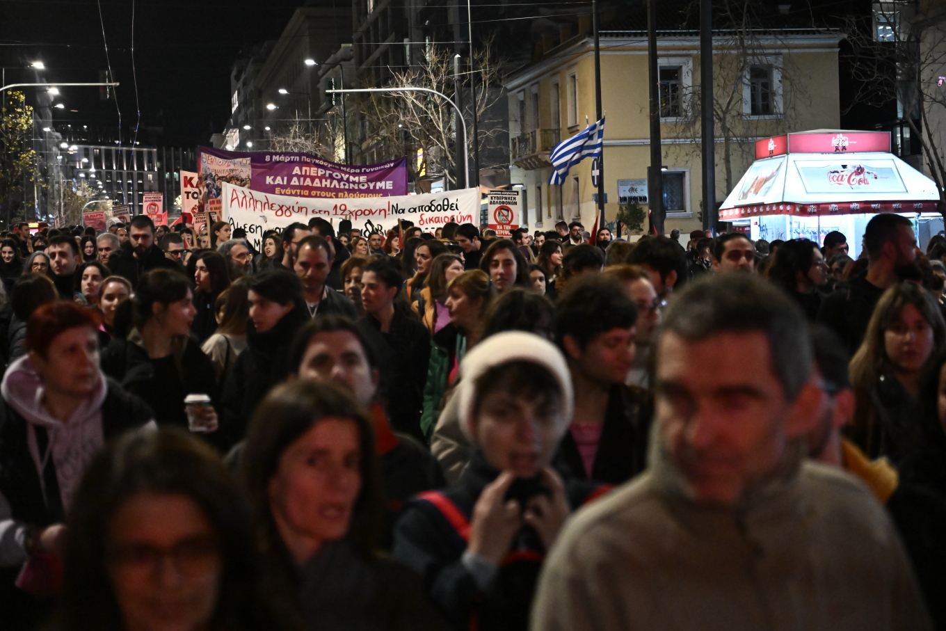
POLYGON ((260 597, 246 501, 213 450, 184 432, 134 432, 99 453, 69 529, 61 631, 286 626, 260 597))

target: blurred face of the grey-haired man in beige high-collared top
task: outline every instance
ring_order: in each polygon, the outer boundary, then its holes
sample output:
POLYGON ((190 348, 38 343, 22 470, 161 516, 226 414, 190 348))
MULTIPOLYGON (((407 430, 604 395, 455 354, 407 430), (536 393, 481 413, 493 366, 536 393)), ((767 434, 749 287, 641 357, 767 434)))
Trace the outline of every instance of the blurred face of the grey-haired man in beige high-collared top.
POLYGON ((785 398, 760 331, 657 342, 656 416, 663 458, 686 480, 690 499, 733 507, 770 480, 790 441, 811 429, 817 388, 785 398), (712 370, 707 370, 712 366, 712 370))

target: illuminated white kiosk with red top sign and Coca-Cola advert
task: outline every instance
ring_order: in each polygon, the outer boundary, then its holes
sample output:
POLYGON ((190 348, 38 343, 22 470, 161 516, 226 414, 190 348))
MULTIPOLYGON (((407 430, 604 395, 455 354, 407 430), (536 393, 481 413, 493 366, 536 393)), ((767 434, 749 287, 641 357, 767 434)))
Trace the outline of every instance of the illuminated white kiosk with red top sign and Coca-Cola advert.
POLYGON ((729 193, 719 219, 747 228, 753 240, 822 244, 839 230, 857 256, 867 221, 877 213, 912 219, 925 243, 943 229, 938 201, 933 180, 890 153, 889 131, 802 131, 756 142, 756 161, 729 193))

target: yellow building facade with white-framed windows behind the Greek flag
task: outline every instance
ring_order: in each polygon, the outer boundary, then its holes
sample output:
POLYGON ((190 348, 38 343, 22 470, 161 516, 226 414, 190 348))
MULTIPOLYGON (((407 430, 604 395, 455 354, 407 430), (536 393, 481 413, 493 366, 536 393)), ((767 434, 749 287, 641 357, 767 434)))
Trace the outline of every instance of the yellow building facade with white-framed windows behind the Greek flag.
MULTIPOLYGON (((812 31, 714 37, 716 200, 724 200, 755 158, 760 138, 839 126, 839 36, 812 31)), ((657 40, 661 148, 667 233, 702 227, 697 33, 657 40)), ((643 33, 602 33, 605 220, 646 193, 650 165, 647 40, 643 33), (641 184, 642 188, 641 188, 641 184)), ((555 221, 594 224, 597 189, 591 159, 550 185, 549 152, 582 131, 595 114, 590 38, 563 44, 520 68, 505 84, 510 99, 512 182, 522 191, 521 224, 552 230, 555 221)), ((645 209, 646 203, 641 204, 645 209)), ((644 225, 646 229, 646 222, 644 225)))

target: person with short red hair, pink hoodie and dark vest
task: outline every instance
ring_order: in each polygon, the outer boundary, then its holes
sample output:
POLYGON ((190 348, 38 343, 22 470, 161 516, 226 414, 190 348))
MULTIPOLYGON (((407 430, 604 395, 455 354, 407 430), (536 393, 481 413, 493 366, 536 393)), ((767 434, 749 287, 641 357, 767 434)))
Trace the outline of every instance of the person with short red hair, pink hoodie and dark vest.
MULTIPOLYGON (((48 279, 41 277, 43 283, 48 279)), ((33 628, 50 607, 29 579, 50 570, 62 552, 62 525, 79 480, 96 451, 153 414, 98 367, 93 309, 71 301, 39 307, 26 325, 25 357, 13 361, 0 393, 0 601, 4 628, 33 628), (27 564, 18 586, 14 578, 27 564), (33 620, 32 622, 37 622, 33 620)))

